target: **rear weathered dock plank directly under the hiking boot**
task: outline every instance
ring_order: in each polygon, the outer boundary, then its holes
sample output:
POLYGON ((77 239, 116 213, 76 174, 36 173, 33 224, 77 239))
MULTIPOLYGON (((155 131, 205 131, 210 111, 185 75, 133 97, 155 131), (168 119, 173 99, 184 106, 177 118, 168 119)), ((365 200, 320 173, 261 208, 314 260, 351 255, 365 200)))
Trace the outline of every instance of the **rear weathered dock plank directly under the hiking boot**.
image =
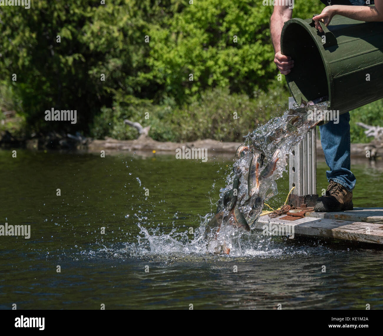
POLYGON ((309 212, 308 217, 383 224, 383 208, 354 208, 340 212, 309 212))

